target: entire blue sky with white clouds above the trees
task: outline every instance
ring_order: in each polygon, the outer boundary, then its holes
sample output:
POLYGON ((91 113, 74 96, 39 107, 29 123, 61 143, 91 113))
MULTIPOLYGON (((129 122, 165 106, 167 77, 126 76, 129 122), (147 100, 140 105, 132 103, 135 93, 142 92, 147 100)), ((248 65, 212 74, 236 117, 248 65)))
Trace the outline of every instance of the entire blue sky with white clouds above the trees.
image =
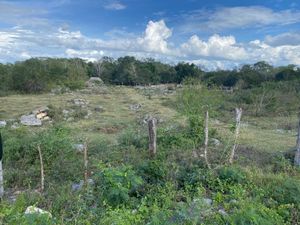
POLYGON ((300 65, 297 0, 0 0, 0 63, 130 55, 208 70, 300 65))

